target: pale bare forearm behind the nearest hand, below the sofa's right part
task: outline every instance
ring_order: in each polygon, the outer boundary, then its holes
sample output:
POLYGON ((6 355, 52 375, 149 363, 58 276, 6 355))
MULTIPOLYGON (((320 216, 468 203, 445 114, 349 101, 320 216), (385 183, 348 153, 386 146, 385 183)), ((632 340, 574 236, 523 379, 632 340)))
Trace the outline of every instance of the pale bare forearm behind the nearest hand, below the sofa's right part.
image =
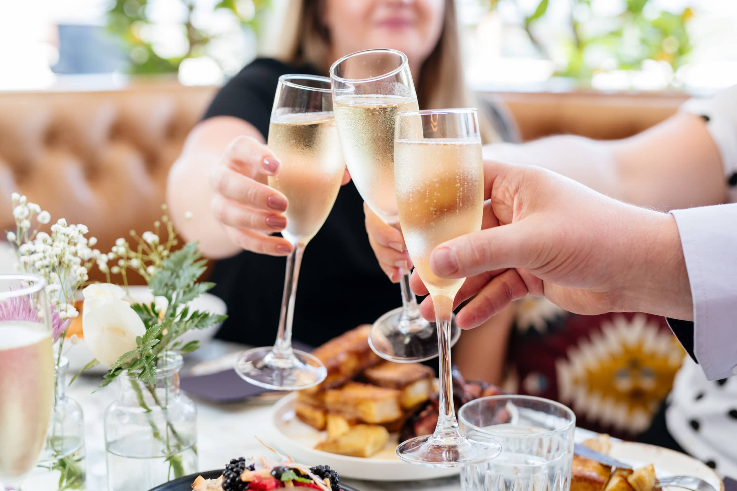
POLYGON ((615 199, 626 191, 612 147, 606 142, 575 135, 559 135, 526 144, 492 144, 483 158, 545 167, 615 199))

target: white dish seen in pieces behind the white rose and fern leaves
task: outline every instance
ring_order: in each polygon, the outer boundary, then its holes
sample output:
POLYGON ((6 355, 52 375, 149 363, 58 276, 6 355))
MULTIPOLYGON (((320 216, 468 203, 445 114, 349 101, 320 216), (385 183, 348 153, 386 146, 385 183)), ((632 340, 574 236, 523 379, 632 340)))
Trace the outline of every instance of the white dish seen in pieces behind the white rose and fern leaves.
MULTIPOLYGON (((148 286, 130 286, 128 287, 128 292, 130 293, 130 298, 135 300, 137 303, 151 303, 153 301, 153 294, 151 294, 148 286)), ((165 302, 166 300, 164 300, 164 303, 165 302)), ((226 303, 223 302, 220 297, 216 297, 211 293, 203 293, 199 297, 195 298, 195 300, 192 300, 192 302, 189 303, 189 308, 190 310, 208 311, 212 314, 226 314, 228 311, 226 303)), ((217 333, 219 328, 220 324, 211 325, 206 329, 195 329, 185 333, 180 339, 184 343, 195 341, 196 339, 200 342, 200 345, 204 345, 215 336, 215 333, 217 333)), ((69 358, 69 373, 72 375, 76 374, 79 370, 82 370, 82 368, 94 358, 91 351, 88 350, 85 345, 84 340, 80 340, 76 345, 69 348, 69 351, 66 353, 66 357, 69 358)), ((97 365, 97 367, 89 370, 90 373, 105 373, 107 371, 108 367, 103 367, 102 365, 97 365)))

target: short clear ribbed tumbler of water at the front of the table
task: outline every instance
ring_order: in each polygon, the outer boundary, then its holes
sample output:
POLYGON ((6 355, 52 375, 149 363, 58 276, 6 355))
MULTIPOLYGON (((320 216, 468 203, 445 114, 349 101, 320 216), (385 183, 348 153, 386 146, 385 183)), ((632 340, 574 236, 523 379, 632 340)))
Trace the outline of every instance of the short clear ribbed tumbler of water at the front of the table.
POLYGON ((461 469, 463 491, 568 491, 576 415, 552 400, 494 395, 458 410, 461 432, 502 446, 489 462, 461 469))

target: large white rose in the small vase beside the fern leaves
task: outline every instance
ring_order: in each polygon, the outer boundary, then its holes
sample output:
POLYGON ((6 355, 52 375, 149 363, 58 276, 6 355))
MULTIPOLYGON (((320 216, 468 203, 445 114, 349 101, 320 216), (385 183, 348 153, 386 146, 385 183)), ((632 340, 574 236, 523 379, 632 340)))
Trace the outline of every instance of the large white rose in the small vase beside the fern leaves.
POLYGON ((90 285, 82 292, 85 344, 97 361, 110 367, 124 353, 136 349, 136 336, 143 336, 146 327, 130 303, 121 300, 125 292, 119 286, 90 285))

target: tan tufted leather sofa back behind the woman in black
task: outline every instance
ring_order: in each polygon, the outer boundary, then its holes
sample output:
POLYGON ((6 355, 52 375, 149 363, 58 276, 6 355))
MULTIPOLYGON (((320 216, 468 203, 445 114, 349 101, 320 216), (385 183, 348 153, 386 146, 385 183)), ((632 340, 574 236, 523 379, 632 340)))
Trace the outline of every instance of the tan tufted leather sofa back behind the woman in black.
MULTIPOLYGON (((18 191, 84 223, 109 250, 161 216, 167 172, 216 91, 133 82, 121 91, 0 92, 0 230, 18 191)), ((497 93, 523 138, 576 133, 621 138, 674 112, 683 97, 497 93)), ((192 210, 197 212, 196 210, 192 210)))

